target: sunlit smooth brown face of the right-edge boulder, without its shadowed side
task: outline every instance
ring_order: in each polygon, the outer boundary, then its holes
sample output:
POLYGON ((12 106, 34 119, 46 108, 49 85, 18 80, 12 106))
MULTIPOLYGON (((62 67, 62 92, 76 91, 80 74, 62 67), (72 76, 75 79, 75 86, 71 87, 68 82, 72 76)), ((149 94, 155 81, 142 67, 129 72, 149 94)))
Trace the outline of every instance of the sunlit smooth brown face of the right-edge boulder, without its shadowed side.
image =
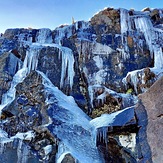
POLYGON ((147 141, 154 163, 163 162, 163 77, 139 98, 147 112, 147 141))

